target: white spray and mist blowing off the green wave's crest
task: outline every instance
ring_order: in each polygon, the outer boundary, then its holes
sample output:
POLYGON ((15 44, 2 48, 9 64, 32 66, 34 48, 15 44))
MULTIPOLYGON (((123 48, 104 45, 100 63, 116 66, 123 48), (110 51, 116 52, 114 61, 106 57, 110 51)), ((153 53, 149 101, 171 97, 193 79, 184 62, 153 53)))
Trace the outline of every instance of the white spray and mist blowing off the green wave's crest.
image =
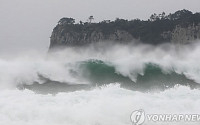
POLYGON ((1 87, 30 85, 34 82, 42 84, 44 81, 39 78, 39 74, 53 81, 89 84, 89 80, 83 78, 82 74, 90 75, 90 72, 80 66, 85 62, 97 60, 113 67, 116 74, 128 77, 133 82, 137 81, 138 75, 144 75, 145 65, 150 63, 159 66, 164 74, 175 72, 200 83, 199 45, 196 42, 180 48, 170 44, 152 46, 100 42, 87 47, 69 47, 44 55, 40 52, 27 52, 9 59, 0 59, 0 82, 1 87))

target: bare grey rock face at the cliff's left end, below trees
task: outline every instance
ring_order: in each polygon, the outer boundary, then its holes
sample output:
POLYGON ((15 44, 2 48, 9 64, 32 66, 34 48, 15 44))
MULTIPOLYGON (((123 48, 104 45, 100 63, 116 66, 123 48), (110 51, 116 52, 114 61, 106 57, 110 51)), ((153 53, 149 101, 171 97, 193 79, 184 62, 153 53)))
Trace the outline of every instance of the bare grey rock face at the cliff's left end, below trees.
POLYGON ((63 26, 57 26, 51 35, 50 48, 56 46, 79 46, 94 42, 115 41, 130 42, 133 36, 124 30, 105 33, 101 30, 65 31, 63 26))

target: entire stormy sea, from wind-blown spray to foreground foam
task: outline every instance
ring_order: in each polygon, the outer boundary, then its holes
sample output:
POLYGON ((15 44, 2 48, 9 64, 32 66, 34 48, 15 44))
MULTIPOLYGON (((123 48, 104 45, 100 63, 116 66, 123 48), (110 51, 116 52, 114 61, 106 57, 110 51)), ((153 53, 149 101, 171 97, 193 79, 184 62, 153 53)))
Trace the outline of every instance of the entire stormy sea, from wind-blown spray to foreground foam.
POLYGON ((199 42, 181 47, 100 42, 44 55, 35 51, 12 58, 2 56, 0 124, 130 125, 130 114, 137 109, 152 114, 198 114, 200 91, 187 85, 200 83, 199 55, 199 42), (176 80, 180 85, 161 92, 121 86, 140 88, 143 82, 148 87, 154 83, 168 85, 176 80), (69 85, 82 86, 63 91, 69 85), (52 86, 56 94, 37 91, 52 86), (82 89, 85 86, 89 89, 82 89))

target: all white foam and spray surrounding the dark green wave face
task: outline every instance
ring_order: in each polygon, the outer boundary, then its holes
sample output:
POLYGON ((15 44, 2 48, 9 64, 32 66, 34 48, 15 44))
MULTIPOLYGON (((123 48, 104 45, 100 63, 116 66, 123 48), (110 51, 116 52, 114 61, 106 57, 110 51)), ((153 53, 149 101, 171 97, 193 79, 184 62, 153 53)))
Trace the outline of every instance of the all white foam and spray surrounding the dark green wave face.
MULTIPOLYGON (((111 44, 112 45, 112 44, 111 44)), ((199 44, 176 50, 171 45, 92 45, 67 48, 48 56, 24 54, 0 59, 0 125, 131 125, 132 111, 143 109, 149 114, 200 114, 200 91, 177 86, 164 92, 142 93, 108 83, 91 90, 42 95, 18 90, 17 85, 43 84, 38 74, 59 82, 89 84, 73 71, 81 72, 77 62, 102 60, 115 67, 118 74, 135 81, 143 74, 145 63, 154 63, 169 73, 172 70, 200 83, 199 44), (101 49, 99 49, 101 48, 101 49)), ((199 122, 154 123, 195 124, 199 122)))

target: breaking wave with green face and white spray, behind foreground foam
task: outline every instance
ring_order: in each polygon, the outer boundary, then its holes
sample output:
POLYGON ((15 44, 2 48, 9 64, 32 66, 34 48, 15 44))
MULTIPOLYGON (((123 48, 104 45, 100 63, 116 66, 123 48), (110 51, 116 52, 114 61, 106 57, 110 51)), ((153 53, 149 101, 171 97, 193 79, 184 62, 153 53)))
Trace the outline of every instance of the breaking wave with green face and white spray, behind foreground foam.
POLYGON ((110 83, 152 91, 184 85, 199 88, 199 44, 104 44, 0 60, 0 88, 75 91, 110 83))

